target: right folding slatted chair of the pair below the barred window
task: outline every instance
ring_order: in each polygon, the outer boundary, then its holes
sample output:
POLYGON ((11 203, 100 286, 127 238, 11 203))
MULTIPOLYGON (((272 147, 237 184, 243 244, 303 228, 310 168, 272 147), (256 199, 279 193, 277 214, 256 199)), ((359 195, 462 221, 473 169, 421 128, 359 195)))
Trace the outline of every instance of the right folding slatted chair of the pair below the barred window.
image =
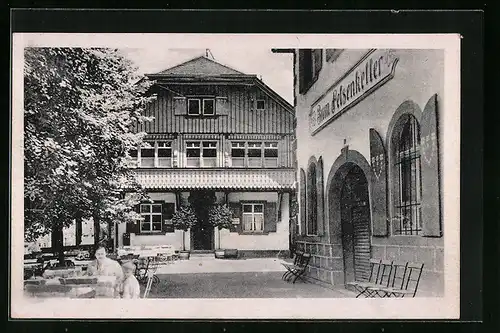
POLYGON ((371 295, 378 297, 415 297, 424 264, 394 262, 391 284, 387 287, 369 287, 371 295))

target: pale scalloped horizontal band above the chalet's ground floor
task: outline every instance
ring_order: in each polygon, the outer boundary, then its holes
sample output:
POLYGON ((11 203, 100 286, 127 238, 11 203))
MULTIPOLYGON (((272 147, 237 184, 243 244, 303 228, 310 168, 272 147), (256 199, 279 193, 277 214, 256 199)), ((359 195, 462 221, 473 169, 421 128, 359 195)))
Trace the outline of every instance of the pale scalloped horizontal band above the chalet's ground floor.
POLYGON ((146 189, 292 190, 294 169, 134 169, 146 189))

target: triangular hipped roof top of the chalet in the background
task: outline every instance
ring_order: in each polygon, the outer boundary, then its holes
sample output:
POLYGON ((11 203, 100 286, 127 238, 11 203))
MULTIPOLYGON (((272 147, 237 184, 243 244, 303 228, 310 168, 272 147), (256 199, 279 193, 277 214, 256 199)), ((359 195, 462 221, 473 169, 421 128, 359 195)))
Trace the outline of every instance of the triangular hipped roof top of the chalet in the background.
POLYGON ((218 63, 205 56, 199 56, 154 75, 242 75, 242 72, 218 63))

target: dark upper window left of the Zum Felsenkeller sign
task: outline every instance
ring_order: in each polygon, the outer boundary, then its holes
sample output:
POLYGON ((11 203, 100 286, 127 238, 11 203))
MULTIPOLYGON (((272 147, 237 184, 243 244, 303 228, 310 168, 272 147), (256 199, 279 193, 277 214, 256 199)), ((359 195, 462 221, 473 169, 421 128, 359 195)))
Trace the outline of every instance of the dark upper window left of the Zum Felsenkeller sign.
POLYGON ((299 92, 305 94, 318 79, 323 66, 323 49, 299 50, 299 92))

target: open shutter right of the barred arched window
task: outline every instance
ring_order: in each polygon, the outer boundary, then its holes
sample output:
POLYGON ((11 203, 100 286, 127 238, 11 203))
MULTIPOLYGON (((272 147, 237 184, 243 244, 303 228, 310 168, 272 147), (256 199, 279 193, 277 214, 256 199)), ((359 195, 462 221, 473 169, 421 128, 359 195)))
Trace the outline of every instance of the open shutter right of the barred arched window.
POLYGON ((438 138, 437 95, 434 95, 425 105, 420 122, 422 228, 423 235, 428 237, 442 236, 438 138))

